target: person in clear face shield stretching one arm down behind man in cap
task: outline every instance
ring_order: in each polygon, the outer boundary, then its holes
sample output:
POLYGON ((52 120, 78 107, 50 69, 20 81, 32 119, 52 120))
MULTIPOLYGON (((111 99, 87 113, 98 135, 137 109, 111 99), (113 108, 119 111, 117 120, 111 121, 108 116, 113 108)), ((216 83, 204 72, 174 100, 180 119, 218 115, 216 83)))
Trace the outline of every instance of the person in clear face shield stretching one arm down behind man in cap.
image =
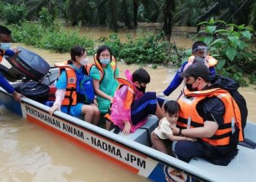
POLYGON ((218 63, 216 59, 207 55, 208 47, 206 43, 203 41, 196 41, 192 46, 192 56, 184 62, 181 67, 178 69, 176 75, 174 76, 172 82, 170 82, 169 86, 165 89, 164 92, 160 93, 158 96, 165 97, 169 96, 176 88, 181 84, 183 79, 178 76, 179 73, 185 71, 189 65, 192 63, 204 63, 209 68, 210 74, 216 74, 215 67, 218 63))

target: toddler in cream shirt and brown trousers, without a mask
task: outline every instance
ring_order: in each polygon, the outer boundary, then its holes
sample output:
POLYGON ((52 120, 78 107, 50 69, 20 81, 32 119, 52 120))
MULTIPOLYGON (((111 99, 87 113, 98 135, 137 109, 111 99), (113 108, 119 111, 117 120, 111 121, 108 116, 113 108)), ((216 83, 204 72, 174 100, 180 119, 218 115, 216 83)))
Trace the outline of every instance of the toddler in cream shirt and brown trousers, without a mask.
POLYGON ((153 132, 151 132, 152 148, 167 154, 167 148, 171 141, 195 141, 195 138, 173 135, 171 126, 176 127, 180 106, 175 100, 169 100, 165 103, 165 117, 159 122, 153 132))

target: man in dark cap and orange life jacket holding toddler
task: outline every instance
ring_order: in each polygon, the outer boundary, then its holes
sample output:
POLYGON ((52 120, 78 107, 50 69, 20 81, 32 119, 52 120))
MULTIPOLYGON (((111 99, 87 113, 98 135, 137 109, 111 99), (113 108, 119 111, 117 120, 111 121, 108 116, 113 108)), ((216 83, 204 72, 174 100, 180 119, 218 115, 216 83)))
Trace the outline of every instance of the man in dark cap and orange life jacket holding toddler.
POLYGON ((189 162, 203 157, 215 165, 228 165, 238 154, 238 141, 244 141, 236 101, 227 90, 212 87, 205 64, 192 64, 178 75, 185 78, 186 87, 178 98, 179 128, 172 126, 173 134, 198 138, 176 143, 178 159, 189 162))

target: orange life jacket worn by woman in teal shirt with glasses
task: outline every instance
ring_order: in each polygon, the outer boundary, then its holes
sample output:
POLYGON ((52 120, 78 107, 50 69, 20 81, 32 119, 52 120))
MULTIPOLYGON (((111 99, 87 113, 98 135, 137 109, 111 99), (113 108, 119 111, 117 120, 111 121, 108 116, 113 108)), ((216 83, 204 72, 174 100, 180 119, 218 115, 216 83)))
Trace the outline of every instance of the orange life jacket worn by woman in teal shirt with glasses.
MULTIPOLYGON (((103 77, 104 77, 104 70, 102 68, 102 65, 101 63, 99 63, 99 60, 97 60, 97 54, 94 54, 94 63, 91 63, 91 64, 87 64, 86 65, 86 71, 90 74, 90 71, 91 71, 91 68, 92 66, 96 66, 99 70, 99 73, 100 73, 100 79, 99 79, 99 82, 102 81, 103 77)), ((111 57, 111 61, 110 61, 110 67, 113 69, 113 74, 114 74, 114 77, 115 77, 115 74, 116 74, 116 58, 114 58, 113 56, 111 57)))

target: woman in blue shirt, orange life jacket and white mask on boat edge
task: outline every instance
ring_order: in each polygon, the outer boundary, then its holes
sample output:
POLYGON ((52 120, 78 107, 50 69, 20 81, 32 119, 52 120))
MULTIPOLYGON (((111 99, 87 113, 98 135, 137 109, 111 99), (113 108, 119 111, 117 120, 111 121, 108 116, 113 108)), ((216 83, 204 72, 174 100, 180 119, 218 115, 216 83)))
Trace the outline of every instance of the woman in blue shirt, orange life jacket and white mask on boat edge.
POLYGON ((56 63, 60 68, 59 79, 56 82, 56 101, 49 113, 61 110, 71 116, 85 114, 84 120, 96 124, 99 122, 97 99, 94 97, 94 87, 85 66, 89 63, 86 50, 76 46, 71 49, 71 60, 67 64, 56 63))

